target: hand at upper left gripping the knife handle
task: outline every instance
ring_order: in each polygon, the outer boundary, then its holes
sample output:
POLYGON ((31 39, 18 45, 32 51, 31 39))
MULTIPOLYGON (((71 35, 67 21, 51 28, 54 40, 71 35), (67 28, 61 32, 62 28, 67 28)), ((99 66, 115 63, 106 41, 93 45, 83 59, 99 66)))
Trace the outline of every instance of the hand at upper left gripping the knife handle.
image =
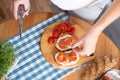
POLYGON ((11 6, 11 8, 12 8, 11 10, 12 10, 16 20, 18 19, 18 13, 17 13, 18 7, 21 4, 25 6, 24 16, 28 15, 29 11, 30 11, 30 1, 29 0, 13 0, 13 4, 11 6))

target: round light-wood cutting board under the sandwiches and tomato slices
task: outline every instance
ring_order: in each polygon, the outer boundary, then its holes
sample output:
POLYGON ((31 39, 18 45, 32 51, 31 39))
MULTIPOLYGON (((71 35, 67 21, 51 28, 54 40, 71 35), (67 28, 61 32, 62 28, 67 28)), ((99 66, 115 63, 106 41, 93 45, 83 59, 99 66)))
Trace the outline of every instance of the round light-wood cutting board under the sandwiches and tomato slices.
MULTIPOLYGON (((56 61, 55 61, 55 54, 57 52, 60 52, 56 47, 55 47, 55 44, 48 44, 48 38, 50 36, 52 36, 52 33, 53 33, 53 30, 54 28, 59 25, 60 23, 63 23, 65 21, 60 21, 60 22, 56 22, 52 25, 50 25, 49 27, 47 27, 45 29, 45 31, 43 32, 42 34, 42 37, 41 37, 41 40, 40 40, 40 49, 41 49, 41 52, 44 56, 44 58, 53 66, 57 67, 57 68, 62 68, 62 69, 69 69, 69 68, 74 68, 74 67, 78 67, 84 63, 87 63, 91 60, 93 60, 95 58, 95 55, 94 56, 80 56, 80 59, 79 61, 74 64, 74 65, 70 65, 70 66, 62 66, 60 64, 58 64, 56 61)), ((76 28, 76 31, 73 35, 76 35, 78 36, 79 38, 81 38, 84 34, 85 34, 85 31, 77 24, 74 24, 72 23, 73 26, 76 28)))

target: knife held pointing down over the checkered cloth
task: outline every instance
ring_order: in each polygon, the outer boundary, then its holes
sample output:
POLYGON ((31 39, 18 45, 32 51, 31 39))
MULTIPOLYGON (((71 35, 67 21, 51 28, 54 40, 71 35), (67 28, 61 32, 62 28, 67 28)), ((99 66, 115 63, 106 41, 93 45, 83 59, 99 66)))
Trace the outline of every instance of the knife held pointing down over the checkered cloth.
POLYGON ((24 5, 20 4, 19 7, 18 7, 18 24, 19 24, 20 38, 22 38, 22 27, 23 27, 23 21, 24 21, 24 12, 25 12, 25 7, 24 7, 24 5))

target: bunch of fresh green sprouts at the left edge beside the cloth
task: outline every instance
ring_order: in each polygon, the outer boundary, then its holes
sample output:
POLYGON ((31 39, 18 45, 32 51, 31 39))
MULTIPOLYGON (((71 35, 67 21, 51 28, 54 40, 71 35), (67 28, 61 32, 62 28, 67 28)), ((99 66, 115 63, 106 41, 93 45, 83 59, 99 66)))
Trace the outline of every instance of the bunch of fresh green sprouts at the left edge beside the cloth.
POLYGON ((0 41, 0 79, 15 62, 14 52, 12 44, 0 41))

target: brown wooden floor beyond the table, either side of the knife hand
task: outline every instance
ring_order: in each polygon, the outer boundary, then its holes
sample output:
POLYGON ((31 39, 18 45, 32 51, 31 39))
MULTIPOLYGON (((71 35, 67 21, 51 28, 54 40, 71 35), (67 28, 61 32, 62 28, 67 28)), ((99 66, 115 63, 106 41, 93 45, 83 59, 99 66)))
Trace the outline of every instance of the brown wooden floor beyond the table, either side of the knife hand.
MULTIPOLYGON (((0 0, 0 8, 5 15, 5 19, 0 18, 0 23, 13 19, 13 13, 11 11, 11 4, 13 0, 0 0)), ((30 0, 31 9, 30 13, 36 12, 52 12, 49 4, 49 0, 30 0)))

